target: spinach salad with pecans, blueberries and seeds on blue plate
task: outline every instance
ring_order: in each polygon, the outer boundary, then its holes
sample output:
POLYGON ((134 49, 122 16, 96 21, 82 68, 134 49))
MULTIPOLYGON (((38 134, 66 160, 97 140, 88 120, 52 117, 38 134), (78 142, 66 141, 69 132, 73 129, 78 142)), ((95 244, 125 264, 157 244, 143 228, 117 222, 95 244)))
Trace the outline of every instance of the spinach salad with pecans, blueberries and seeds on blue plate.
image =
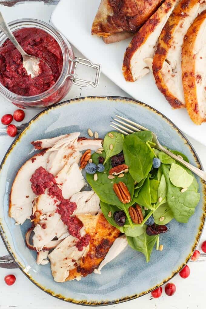
MULTIPOLYGON (((153 146, 150 131, 127 136, 109 132, 102 151, 86 167, 105 218, 147 262, 167 224, 173 219, 187 223, 200 199, 191 171, 153 146)), ((182 153, 172 152, 188 162, 182 153)))

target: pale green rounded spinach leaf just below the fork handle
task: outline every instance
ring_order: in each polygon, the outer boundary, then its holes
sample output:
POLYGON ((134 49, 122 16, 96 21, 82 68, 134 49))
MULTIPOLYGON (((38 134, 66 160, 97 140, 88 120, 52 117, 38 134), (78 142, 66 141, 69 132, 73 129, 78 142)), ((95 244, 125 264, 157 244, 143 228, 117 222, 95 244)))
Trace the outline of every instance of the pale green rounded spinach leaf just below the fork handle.
POLYGON ((192 175, 188 174, 183 167, 175 163, 172 163, 170 167, 169 176, 171 183, 179 188, 188 188, 194 178, 192 175))

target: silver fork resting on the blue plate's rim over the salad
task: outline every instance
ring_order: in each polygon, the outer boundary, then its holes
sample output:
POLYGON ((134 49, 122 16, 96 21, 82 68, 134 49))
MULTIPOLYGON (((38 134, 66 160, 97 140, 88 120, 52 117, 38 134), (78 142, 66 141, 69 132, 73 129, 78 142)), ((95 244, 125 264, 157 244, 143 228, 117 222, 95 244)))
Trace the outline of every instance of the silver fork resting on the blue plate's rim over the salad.
MULTIPOLYGON (((116 115, 117 118, 113 118, 113 120, 115 120, 116 122, 111 121, 111 123, 113 125, 110 125, 112 128, 116 129, 117 131, 128 135, 130 133, 134 133, 137 131, 149 131, 149 129, 143 127, 142 125, 139 125, 131 120, 128 120, 124 117, 118 116, 116 115), (120 120, 121 119, 121 120, 120 120), (124 120, 124 121, 123 121, 124 120)), ((206 172, 200 170, 199 168, 191 165, 190 163, 187 163, 185 160, 183 160, 182 158, 180 158, 177 155, 174 155, 171 151, 165 149, 160 142, 158 141, 157 135, 155 133, 152 132, 152 142, 155 144, 155 146, 153 146, 153 148, 156 148, 158 150, 163 151, 164 153, 166 153, 167 155, 169 155, 171 158, 175 159, 176 161, 182 163, 184 166, 186 166, 189 170, 191 170, 192 172, 194 172, 196 175, 200 176, 200 178, 204 179, 206 181, 206 172)))

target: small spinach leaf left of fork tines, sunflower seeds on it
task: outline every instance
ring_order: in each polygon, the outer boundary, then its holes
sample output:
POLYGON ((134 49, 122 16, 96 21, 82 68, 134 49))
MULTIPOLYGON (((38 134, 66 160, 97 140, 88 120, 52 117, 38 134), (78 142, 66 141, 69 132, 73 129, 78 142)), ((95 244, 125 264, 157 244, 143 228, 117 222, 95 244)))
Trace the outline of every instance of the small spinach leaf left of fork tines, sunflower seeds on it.
POLYGON ((103 148, 106 153, 106 158, 104 160, 104 164, 107 162, 109 158, 113 155, 117 155, 122 151, 124 144, 124 135, 117 132, 108 132, 104 137, 103 148), (112 133, 114 136, 111 138, 108 134, 112 133), (110 149, 110 145, 113 145, 113 148, 110 149))

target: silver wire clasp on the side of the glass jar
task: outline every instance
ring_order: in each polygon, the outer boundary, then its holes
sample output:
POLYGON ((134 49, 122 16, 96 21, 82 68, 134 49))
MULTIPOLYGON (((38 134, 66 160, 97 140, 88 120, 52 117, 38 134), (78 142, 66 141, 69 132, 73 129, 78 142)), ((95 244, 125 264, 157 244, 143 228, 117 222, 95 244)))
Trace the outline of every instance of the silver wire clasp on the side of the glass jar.
POLYGON ((99 63, 93 64, 90 60, 87 60, 84 58, 78 58, 78 57, 75 57, 74 60, 72 59, 70 60, 71 60, 71 64, 70 64, 70 69, 69 69, 69 76, 73 84, 77 86, 81 86, 81 87, 87 87, 91 85, 92 87, 97 88, 99 85, 101 65, 99 63), (78 63, 82 64, 83 66, 88 66, 90 68, 96 69, 96 76, 95 76, 94 82, 77 77, 76 68, 77 68, 78 63))

